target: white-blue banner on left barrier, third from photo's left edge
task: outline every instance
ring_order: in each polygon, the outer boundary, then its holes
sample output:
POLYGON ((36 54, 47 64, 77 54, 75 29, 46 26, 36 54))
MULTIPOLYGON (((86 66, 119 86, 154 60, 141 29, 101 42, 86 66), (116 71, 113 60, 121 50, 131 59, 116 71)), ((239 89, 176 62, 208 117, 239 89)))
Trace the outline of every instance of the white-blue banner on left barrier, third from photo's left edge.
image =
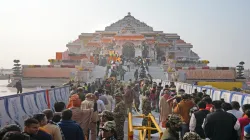
POLYGON ((34 114, 38 114, 40 111, 35 102, 35 93, 24 93, 20 95, 21 105, 24 112, 32 117, 34 114))

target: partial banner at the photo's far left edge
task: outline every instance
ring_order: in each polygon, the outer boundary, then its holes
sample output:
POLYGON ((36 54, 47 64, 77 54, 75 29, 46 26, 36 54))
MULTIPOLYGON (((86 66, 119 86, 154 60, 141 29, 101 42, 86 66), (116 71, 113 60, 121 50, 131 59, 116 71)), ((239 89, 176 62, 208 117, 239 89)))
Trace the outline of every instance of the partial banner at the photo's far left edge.
POLYGON ((0 128, 14 123, 6 111, 4 100, 5 99, 3 97, 0 98, 0 128))

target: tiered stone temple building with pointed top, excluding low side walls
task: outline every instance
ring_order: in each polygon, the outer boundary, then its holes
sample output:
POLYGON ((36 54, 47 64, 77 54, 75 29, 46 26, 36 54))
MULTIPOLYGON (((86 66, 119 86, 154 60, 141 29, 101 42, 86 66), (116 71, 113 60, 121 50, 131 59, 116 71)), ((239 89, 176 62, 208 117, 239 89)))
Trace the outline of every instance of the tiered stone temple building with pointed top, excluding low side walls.
POLYGON ((56 60, 60 62, 93 60, 94 56, 105 56, 110 51, 127 59, 137 56, 154 60, 162 57, 185 61, 200 59, 192 51, 193 45, 180 39, 178 34, 154 31, 131 13, 107 26, 103 31, 80 34, 66 47, 68 49, 65 52, 57 53, 56 60))

